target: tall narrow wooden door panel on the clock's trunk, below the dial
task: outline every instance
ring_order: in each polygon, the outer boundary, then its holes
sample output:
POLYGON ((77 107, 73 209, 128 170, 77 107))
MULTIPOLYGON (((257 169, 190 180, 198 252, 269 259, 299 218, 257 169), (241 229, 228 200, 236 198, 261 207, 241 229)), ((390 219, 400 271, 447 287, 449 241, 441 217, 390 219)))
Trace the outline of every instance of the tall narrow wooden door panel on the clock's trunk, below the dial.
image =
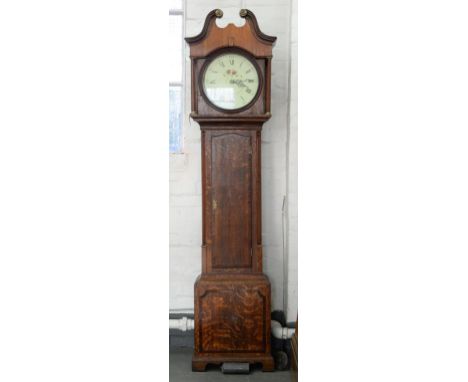
POLYGON ((252 136, 211 135, 211 266, 252 265, 252 136))

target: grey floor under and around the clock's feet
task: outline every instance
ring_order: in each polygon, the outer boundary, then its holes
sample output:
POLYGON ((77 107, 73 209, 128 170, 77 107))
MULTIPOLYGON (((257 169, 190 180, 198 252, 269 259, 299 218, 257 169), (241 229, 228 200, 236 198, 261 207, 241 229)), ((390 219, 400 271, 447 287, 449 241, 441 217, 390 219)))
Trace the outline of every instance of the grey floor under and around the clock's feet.
POLYGON ((250 374, 234 375, 221 373, 220 367, 208 366, 205 372, 192 372, 192 351, 190 348, 171 348, 169 351, 170 382, 291 382, 291 372, 274 371, 264 373, 261 367, 250 370, 250 374))

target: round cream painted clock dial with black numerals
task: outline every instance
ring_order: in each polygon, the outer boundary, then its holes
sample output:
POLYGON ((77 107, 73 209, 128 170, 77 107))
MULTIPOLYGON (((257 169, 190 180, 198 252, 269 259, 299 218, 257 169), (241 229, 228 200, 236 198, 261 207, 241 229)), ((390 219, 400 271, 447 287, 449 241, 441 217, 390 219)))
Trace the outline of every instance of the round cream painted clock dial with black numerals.
POLYGON ((203 91, 215 106, 236 110, 255 98, 259 82, 257 69, 247 57, 225 53, 208 64, 203 77, 203 91))

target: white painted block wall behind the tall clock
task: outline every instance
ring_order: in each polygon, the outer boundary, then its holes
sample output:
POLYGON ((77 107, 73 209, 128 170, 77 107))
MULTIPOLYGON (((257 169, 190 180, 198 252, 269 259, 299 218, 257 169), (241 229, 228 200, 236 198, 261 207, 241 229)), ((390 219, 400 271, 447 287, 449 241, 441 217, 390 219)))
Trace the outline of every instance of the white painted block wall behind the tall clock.
MULTIPOLYGON (((241 25, 241 8, 252 10, 260 29, 277 36, 272 61, 272 118, 262 133, 264 272, 272 307, 297 314, 297 29, 296 0, 187 0, 185 35, 200 32, 206 14, 241 25), (294 20, 294 22, 291 22, 294 20), (291 87, 292 85, 292 87, 291 87), (291 102, 290 102, 291 101, 291 102)), ((186 67, 189 68, 188 49, 186 67)), ((188 119, 190 73, 186 70, 184 152, 170 157, 170 309, 193 309, 193 283, 201 271, 200 129, 188 119)))

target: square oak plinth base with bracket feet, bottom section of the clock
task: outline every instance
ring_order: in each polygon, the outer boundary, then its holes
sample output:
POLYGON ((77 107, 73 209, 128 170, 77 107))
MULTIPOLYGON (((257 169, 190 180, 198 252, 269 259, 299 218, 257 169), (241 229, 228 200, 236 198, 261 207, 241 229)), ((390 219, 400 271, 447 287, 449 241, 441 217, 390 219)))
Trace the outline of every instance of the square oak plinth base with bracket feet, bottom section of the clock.
POLYGON ((262 273, 201 275, 195 283, 192 370, 223 362, 274 369, 270 345, 270 282, 262 273))

